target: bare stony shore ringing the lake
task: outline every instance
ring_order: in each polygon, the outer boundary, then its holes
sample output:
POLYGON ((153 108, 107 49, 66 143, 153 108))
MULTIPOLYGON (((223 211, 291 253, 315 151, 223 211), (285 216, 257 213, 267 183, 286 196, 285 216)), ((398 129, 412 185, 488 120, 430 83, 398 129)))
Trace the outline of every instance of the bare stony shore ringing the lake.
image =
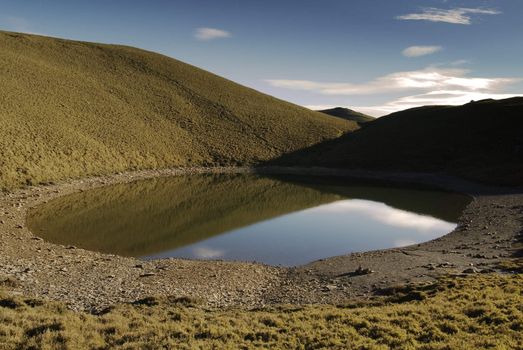
POLYGON ((485 187, 431 174, 265 168, 259 172, 329 174, 423 183, 471 195, 459 226, 439 239, 353 253, 283 268, 256 263, 163 259, 140 261, 48 243, 25 226, 29 208, 58 196, 155 176, 249 172, 247 168, 140 171, 30 187, 0 194, 0 286, 96 311, 151 295, 189 296, 209 306, 338 303, 443 274, 492 272, 521 253, 523 190, 485 187), (519 249, 519 250, 518 250, 519 249))

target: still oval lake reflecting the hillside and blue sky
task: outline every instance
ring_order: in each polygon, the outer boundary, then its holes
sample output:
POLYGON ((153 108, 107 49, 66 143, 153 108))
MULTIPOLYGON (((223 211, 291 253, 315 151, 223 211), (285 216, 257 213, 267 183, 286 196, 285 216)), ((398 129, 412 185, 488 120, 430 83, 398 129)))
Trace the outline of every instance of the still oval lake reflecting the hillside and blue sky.
POLYGON ((292 266, 434 239, 468 202, 326 177, 191 175, 57 198, 27 222, 50 242, 104 253, 292 266))

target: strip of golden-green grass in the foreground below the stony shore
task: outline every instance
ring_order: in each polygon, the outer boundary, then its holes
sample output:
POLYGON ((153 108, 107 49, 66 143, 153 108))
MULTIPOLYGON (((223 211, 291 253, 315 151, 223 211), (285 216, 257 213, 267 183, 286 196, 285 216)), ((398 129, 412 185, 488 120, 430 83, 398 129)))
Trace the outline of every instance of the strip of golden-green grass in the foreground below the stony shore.
POLYGON ((101 315, 0 298, 5 349, 521 349, 523 276, 446 278, 368 304, 207 309, 148 298, 101 315))

